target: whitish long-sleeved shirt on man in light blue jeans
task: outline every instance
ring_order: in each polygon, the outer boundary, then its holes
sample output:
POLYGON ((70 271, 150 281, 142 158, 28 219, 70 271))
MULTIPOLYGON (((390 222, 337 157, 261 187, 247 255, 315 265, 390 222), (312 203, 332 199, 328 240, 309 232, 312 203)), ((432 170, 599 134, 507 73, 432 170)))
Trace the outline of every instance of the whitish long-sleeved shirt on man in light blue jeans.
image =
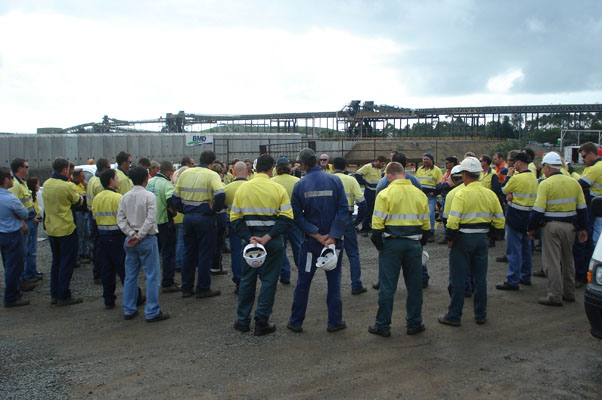
POLYGON ((119 201, 117 225, 127 236, 138 233, 140 240, 147 235, 156 235, 158 228, 155 195, 142 186, 134 186, 119 201))

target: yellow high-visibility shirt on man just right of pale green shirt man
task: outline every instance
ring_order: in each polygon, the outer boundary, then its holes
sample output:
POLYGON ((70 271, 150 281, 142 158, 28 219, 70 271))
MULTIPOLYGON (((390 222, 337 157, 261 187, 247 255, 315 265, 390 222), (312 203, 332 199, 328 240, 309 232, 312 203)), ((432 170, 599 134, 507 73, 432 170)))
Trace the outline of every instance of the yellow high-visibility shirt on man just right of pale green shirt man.
POLYGON ((194 167, 180 174, 173 195, 180 198, 186 214, 200 211, 199 207, 209 206, 218 194, 225 195, 224 187, 215 171, 206 167, 194 167))

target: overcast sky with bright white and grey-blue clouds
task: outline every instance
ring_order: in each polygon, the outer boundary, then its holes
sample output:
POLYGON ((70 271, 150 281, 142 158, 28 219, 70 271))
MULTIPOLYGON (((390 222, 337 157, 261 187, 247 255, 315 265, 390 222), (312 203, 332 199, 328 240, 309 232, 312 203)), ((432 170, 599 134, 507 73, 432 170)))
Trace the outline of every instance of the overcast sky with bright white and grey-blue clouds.
POLYGON ((602 101, 600 0, 0 1, 0 132, 602 101))

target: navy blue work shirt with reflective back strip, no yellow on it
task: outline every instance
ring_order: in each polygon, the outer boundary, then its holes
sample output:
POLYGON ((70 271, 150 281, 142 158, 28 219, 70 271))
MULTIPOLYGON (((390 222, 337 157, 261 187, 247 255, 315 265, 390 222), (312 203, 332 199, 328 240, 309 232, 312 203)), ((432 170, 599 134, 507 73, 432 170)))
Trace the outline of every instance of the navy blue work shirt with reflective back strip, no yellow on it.
POLYGON ((343 237, 349 207, 339 177, 322 171, 320 166, 311 167, 293 187, 291 205, 295 224, 303 233, 343 237))

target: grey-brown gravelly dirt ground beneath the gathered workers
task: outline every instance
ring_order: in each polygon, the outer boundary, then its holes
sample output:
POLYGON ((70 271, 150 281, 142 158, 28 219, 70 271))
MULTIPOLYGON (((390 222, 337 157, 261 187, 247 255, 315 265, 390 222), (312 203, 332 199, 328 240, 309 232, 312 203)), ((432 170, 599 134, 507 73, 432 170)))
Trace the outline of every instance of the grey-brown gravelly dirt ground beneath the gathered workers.
MULTIPOLYGON (((583 289, 563 307, 536 303, 546 280, 533 278, 519 292, 495 290, 507 264, 495 262, 504 242, 489 254, 488 322, 473 320, 467 299, 460 328, 437 316, 448 306, 447 247, 429 244, 431 282, 424 290, 426 331, 405 334, 405 286, 399 284, 392 336, 367 332, 378 292, 377 254, 360 239, 367 293, 351 295, 349 264, 343 262, 343 315, 347 329, 326 332, 326 279, 316 274, 304 332, 286 329, 296 274, 279 284, 265 337, 232 328, 236 296, 231 275, 214 278, 222 295, 183 299, 162 294, 168 321, 148 324, 143 316, 123 319, 103 307, 91 265, 75 270, 72 289, 84 302, 50 305, 50 250, 40 242, 40 287, 27 294, 32 305, 0 310, 0 397, 13 398, 400 398, 400 399, 599 399, 602 341, 589 334, 583 289)), ((535 265, 541 264, 536 253, 535 265)), ((228 266, 229 256, 224 257, 228 266)), ((179 279, 179 276, 177 276, 179 279)), ((4 286, 3 280, 1 281, 4 286)), ((143 285, 143 278, 141 284, 143 285)), ((118 288, 118 302, 121 288, 118 288)))

